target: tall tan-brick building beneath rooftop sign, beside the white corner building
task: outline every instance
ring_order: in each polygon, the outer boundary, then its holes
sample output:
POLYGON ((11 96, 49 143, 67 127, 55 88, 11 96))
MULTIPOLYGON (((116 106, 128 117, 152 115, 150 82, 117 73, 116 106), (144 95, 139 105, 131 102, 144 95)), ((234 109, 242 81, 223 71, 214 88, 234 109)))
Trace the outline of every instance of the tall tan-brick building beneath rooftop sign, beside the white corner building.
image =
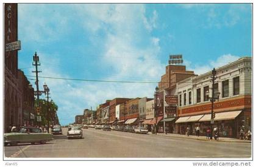
POLYGON ((177 99, 176 83, 191 76, 194 76, 194 72, 187 71, 186 66, 166 66, 166 73, 162 75, 161 81, 158 83, 159 92, 155 94, 157 121, 161 120, 158 123, 159 132, 163 132, 164 127, 167 132, 176 132, 174 120, 177 117, 177 103, 173 100, 177 99))

